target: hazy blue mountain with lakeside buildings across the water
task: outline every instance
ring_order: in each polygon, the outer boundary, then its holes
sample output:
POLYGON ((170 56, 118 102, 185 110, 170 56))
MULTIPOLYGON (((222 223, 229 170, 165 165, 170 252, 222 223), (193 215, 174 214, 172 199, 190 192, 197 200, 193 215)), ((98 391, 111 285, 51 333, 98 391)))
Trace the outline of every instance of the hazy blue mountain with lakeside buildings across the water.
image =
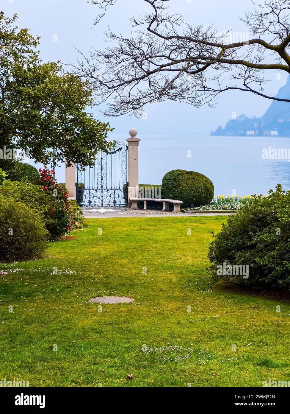
MULTIPOLYGON (((290 98, 290 76, 277 94, 278 98, 290 98)), ((271 105, 261 118, 248 118, 244 114, 230 119, 225 128, 221 125, 211 132, 211 135, 235 136, 263 136, 283 135, 290 136, 290 102, 272 101, 271 105)))

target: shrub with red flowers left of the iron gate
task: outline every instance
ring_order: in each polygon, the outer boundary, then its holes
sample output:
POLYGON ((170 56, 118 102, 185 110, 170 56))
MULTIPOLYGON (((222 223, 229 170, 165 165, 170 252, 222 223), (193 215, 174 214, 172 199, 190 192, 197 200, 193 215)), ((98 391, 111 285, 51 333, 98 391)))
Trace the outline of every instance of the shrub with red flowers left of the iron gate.
POLYGON ((70 202, 67 199, 68 192, 56 182, 53 170, 44 167, 43 169, 39 168, 38 171, 40 173, 39 185, 41 189, 54 200, 54 207, 52 207, 53 222, 48 225, 48 231, 51 234, 51 239, 55 240, 68 233, 72 224, 74 224, 70 212, 70 202))

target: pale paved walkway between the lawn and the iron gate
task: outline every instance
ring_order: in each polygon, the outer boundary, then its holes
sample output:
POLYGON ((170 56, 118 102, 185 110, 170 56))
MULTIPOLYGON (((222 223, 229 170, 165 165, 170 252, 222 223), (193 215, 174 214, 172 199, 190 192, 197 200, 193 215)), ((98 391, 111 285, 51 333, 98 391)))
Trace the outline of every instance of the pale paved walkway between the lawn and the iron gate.
POLYGON ((131 210, 128 207, 82 207, 86 219, 111 219, 113 217, 199 217, 228 216, 231 213, 173 213, 162 210, 131 210))

